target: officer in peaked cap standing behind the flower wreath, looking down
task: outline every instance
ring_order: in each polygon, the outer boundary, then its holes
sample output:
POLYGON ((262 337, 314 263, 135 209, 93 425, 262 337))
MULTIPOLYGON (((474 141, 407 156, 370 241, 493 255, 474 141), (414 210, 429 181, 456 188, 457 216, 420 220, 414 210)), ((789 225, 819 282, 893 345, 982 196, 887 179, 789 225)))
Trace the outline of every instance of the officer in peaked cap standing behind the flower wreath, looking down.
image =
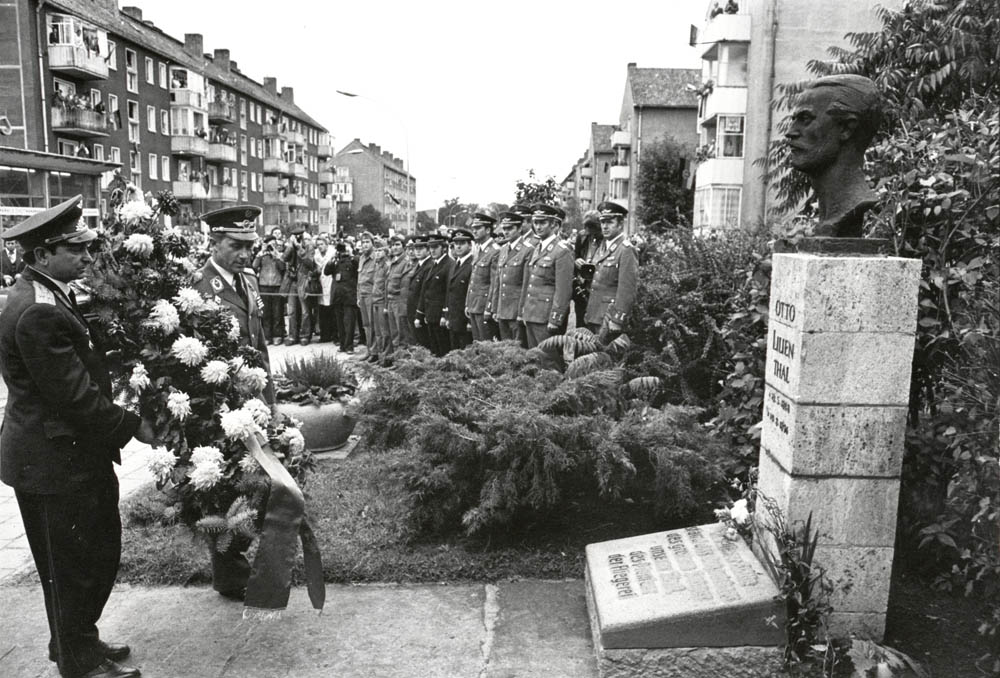
MULTIPOLYGON (((249 268, 257 240, 255 220, 260 212, 260 207, 255 205, 238 205, 201 215, 212 239, 212 256, 192 275, 191 286, 236 316, 240 324, 240 343, 260 351, 267 370, 263 397, 273 404, 274 383, 262 323, 264 302, 257 290, 257 278, 249 268)), ((244 552, 250 543, 250 539, 238 536, 222 553, 211 549, 212 586, 226 598, 243 599, 250 578, 250 563, 244 552)))

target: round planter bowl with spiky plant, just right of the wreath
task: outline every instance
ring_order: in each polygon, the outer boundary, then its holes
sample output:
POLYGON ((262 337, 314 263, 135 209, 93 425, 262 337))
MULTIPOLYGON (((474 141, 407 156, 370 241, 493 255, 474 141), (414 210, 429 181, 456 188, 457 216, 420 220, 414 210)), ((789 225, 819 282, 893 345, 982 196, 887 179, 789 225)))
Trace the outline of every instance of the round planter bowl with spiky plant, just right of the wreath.
POLYGON ((302 423, 306 446, 327 452, 347 443, 356 419, 349 412, 358 382, 330 355, 289 357, 274 377, 276 409, 302 423))

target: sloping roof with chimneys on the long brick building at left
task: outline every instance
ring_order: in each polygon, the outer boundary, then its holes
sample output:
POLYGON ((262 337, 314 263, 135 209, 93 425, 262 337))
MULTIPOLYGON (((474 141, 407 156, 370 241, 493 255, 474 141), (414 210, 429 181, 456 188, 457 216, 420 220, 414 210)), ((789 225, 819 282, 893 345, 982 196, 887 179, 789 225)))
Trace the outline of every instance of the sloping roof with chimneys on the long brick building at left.
POLYGON ((184 43, 155 26, 133 19, 121 10, 113 11, 104 3, 95 0, 49 0, 48 4, 162 54, 178 66, 186 66, 211 80, 222 82, 234 90, 248 94, 293 118, 324 132, 329 131, 294 103, 272 94, 262 84, 242 73, 234 73, 213 64, 205 55, 195 57, 184 49, 184 43))

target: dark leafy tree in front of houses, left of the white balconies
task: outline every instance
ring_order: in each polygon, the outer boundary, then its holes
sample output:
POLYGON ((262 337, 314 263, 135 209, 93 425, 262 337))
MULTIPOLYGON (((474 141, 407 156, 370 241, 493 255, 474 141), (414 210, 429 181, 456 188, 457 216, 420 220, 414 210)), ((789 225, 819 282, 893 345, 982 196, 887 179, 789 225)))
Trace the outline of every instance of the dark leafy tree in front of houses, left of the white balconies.
POLYGON ((657 231, 691 223, 694 191, 686 184, 692 157, 692 149, 671 136, 643 148, 636 177, 639 221, 657 231))

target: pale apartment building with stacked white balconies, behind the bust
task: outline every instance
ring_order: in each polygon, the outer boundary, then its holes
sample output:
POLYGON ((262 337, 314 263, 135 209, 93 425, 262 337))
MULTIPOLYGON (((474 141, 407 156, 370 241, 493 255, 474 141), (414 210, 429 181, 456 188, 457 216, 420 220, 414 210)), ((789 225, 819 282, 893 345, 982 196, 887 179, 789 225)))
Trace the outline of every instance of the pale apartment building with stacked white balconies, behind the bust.
POLYGON ((702 50, 698 89, 696 232, 767 223, 771 212, 764 160, 780 136, 777 85, 812 77, 807 65, 846 47, 850 31, 876 30, 875 7, 898 2, 741 0, 729 12, 708 3, 693 43, 702 50))

